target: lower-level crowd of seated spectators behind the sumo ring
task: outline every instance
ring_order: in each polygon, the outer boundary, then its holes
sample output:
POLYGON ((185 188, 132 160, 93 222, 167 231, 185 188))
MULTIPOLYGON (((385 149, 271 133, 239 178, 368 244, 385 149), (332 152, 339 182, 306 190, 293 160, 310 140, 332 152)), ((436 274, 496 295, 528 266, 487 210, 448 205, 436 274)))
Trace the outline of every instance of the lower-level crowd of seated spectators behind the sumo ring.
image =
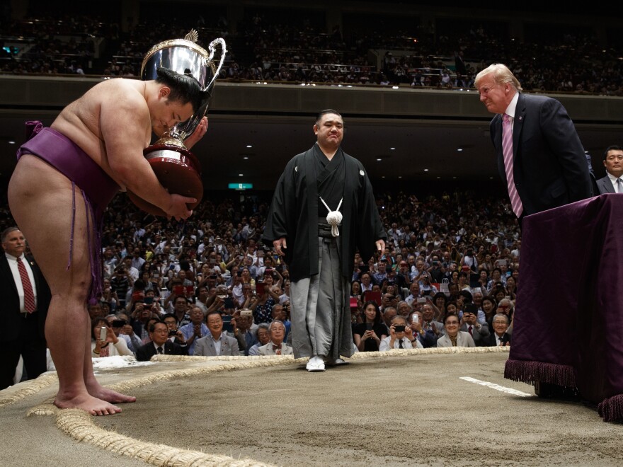
MULTIPOLYGON (((103 296, 88 305, 93 357, 149 359, 154 342, 170 354, 290 354, 288 268, 261 242, 269 202, 270 194, 210 195, 178 222, 118 195, 105 212, 103 296)), ((353 258, 358 351, 435 347, 442 338, 499 345, 494 330, 512 333, 520 233, 506 200, 387 192, 377 204, 387 248, 353 258), (457 333, 445 328, 448 316, 457 333)), ((13 224, 8 209, 0 224, 13 224)))

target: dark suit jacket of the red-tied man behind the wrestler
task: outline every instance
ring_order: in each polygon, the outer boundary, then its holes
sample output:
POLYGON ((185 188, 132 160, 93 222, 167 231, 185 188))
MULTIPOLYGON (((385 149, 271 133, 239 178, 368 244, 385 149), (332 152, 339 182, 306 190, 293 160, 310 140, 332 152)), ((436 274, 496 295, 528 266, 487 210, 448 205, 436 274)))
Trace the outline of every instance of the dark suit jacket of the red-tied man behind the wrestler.
MULTIPOLYGON (((45 317, 47 316, 47 308, 50 306, 50 287, 47 286, 47 282, 43 278, 41 270, 37 263, 30 255, 27 255, 25 259, 30 265, 30 269, 33 270, 35 276, 35 289, 37 289, 37 311, 33 313, 33 316, 29 316, 28 319, 37 319, 39 338, 45 340, 45 317)), ((11 267, 8 267, 8 260, 4 251, 0 248, 0 316, 3 318, 2 332, 0 333, 0 342, 9 342, 16 340, 19 335, 22 326, 24 325, 25 318, 23 313, 19 310, 19 296, 17 293, 17 286, 13 274, 11 274, 11 267)))

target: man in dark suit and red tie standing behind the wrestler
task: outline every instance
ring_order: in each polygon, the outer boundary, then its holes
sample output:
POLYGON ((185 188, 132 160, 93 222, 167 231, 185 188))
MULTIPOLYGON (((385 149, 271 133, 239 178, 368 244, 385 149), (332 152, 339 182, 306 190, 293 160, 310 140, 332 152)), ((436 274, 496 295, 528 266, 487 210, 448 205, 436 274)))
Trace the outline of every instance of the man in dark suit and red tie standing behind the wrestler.
POLYGON ((0 255, 0 389, 4 389, 13 385, 20 355, 29 379, 47 369, 44 328, 50 288, 33 258, 24 255, 25 239, 17 227, 2 232, 1 243, 4 253, 0 255), (25 283, 25 277, 22 279, 21 267, 30 285, 25 283))

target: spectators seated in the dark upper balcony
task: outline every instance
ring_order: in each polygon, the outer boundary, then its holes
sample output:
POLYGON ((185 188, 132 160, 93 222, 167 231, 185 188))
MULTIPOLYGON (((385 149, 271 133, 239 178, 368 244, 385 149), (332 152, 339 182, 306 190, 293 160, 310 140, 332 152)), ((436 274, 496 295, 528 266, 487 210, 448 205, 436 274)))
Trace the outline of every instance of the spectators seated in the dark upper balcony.
POLYGON ((18 56, 5 51, 0 57, 1 71, 138 76, 149 47, 182 38, 194 27, 204 47, 213 38, 226 38, 230 54, 222 78, 232 81, 460 89, 471 88, 476 73, 491 62, 503 62, 526 91, 623 96, 621 51, 598 45, 585 30, 549 35, 530 31, 531 37, 520 41, 509 38, 502 25, 484 27, 464 21, 461 27, 436 33, 423 28, 388 32, 351 25, 350 32, 343 34, 338 27, 326 33, 305 19, 285 24, 255 14, 241 21, 237 35, 229 37, 223 16, 206 18, 190 22, 149 19, 127 33, 121 33, 115 23, 93 18, 13 22, 3 36, 24 36, 33 45, 18 56), (99 60, 93 60, 96 42, 102 49, 99 60), (378 66, 370 50, 387 50, 378 66))

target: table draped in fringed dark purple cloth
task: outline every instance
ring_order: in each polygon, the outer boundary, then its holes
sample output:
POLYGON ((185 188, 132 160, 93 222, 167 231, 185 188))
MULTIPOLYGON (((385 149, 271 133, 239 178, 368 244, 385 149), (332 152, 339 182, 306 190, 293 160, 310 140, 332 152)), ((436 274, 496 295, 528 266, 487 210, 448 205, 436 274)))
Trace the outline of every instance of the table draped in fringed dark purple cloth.
POLYGON ((622 420, 622 261, 623 195, 525 217, 505 378, 577 388, 622 420))

